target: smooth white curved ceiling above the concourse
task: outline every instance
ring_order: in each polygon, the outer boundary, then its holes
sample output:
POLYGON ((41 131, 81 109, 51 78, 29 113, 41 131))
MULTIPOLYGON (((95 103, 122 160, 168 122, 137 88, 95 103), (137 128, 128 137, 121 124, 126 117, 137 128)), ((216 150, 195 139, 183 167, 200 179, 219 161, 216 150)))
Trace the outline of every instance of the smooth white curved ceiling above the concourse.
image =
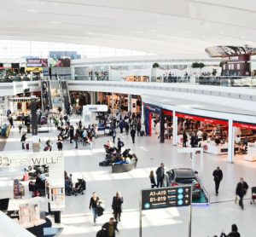
POLYGON ((5 0, 0 39, 205 55, 211 45, 255 46, 255 16, 253 0, 5 0))

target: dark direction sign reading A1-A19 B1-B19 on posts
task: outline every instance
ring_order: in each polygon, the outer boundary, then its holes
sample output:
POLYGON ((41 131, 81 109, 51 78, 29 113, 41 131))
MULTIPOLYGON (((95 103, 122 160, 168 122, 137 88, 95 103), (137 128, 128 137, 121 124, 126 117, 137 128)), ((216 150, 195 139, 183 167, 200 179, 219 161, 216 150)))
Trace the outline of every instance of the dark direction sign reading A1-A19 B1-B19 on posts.
POLYGON ((191 186, 142 190, 142 209, 191 205, 191 186))

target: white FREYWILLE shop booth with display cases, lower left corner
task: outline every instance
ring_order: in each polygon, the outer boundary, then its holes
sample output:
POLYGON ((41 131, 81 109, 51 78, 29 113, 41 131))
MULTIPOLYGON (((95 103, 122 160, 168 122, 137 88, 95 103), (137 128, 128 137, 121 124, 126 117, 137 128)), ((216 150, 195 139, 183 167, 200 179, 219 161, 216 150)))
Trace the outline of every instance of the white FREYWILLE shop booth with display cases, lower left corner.
POLYGON ((55 223, 61 223, 65 208, 62 152, 3 153, 0 171, 0 211, 36 236, 51 227, 49 212, 55 223))

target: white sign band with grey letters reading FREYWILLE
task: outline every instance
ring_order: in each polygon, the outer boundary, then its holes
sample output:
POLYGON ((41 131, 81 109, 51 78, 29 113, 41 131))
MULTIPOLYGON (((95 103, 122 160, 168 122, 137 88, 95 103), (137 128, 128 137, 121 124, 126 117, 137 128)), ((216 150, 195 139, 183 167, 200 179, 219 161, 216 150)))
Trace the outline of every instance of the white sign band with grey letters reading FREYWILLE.
POLYGON ((2 153, 1 167, 26 167, 29 165, 55 165, 63 162, 62 152, 2 153))

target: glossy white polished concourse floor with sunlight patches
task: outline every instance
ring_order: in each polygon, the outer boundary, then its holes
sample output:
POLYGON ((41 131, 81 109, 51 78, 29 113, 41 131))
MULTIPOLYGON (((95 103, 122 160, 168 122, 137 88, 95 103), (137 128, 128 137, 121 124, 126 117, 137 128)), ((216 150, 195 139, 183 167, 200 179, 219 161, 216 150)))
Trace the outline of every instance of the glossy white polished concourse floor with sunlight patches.
MULTIPOLYGON (((74 118, 72 122, 76 120, 77 118, 74 118)), ((40 134, 43 143, 49 136, 55 138, 56 135, 57 131, 53 129, 49 133, 40 134)), ((124 197, 119 236, 139 236, 139 196, 140 190, 150 188, 149 171, 155 171, 161 162, 165 163, 166 170, 172 167, 191 167, 189 154, 177 153, 177 147, 173 147, 171 141, 160 144, 157 136, 143 136, 136 137, 136 143, 132 144, 131 136, 118 134, 118 137, 125 142, 125 147, 131 147, 133 152, 137 153, 139 160, 136 170, 112 174, 111 167, 98 165, 104 159, 102 145, 110 137, 97 138, 92 150, 82 146, 75 150, 73 144, 64 142, 65 170, 73 174, 73 181, 76 177, 83 176, 87 182, 87 189, 84 196, 67 196, 66 209, 61 214, 61 223, 64 227, 61 236, 95 237, 102 224, 112 217, 111 203, 117 191, 120 191, 124 197), (105 214, 98 218, 96 226, 93 225, 89 210, 90 196, 94 191, 104 200, 106 209, 105 214)), ((4 150, 21 150, 20 135, 16 128, 12 129, 4 150)), ((197 170, 200 171, 199 157, 196 165, 197 170)), ((234 164, 230 164, 226 156, 204 153, 204 166, 200 175, 210 194, 210 205, 192 207, 191 236, 212 237, 214 234, 219 236, 223 230, 228 233, 232 223, 237 224, 241 236, 255 236, 256 204, 250 205, 251 192, 247 192, 244 211, 234 203, 234 199, 236 183, 241 176, 250 187, 256 186, 256 163, 244 161, 243 157, 236 156, 234 164), (220 184, 219 195, 215 196, 212 171, 217 165, 224 171, 224 180, 220 184)), ((189 236, 189 208, 143 211, 143 237, 145 236, 189 236)))

